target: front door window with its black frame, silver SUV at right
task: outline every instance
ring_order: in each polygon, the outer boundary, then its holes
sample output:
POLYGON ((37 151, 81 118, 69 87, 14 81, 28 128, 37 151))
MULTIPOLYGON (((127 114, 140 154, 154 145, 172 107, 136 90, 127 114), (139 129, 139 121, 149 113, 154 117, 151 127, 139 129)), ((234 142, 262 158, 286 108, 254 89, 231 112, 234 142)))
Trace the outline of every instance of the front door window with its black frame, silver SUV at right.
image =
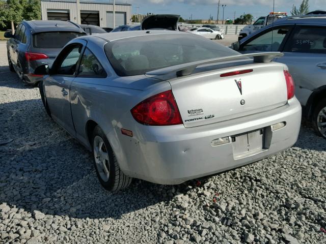
POLYGON ((292 26, 274 26, 267 28, 247 39, 240 45, 240 53, 280 51, 291 33, 292 26))

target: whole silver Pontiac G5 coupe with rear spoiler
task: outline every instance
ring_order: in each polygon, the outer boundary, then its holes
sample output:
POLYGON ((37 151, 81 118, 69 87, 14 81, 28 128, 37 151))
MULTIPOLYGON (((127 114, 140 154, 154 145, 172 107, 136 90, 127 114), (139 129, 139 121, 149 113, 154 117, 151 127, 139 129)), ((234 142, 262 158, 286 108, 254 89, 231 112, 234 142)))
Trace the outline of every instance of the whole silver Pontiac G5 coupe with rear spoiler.
POLYGON ((47 113, 93 151, 102 186, 226 171, 292 146, 301 105, 278 52, 240 54, 171 31, 70 41, 39 84, 47 113))

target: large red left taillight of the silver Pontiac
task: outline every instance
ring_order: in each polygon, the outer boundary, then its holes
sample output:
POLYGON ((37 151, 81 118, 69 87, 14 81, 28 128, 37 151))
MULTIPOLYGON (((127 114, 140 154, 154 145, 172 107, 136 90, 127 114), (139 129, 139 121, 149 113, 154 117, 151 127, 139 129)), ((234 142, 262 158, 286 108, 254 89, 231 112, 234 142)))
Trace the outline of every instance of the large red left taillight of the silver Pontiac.
POLYGON ((149 126, 182 124, 178 106, 171 90, 156 94, 131 109, 135 120, 149 126))

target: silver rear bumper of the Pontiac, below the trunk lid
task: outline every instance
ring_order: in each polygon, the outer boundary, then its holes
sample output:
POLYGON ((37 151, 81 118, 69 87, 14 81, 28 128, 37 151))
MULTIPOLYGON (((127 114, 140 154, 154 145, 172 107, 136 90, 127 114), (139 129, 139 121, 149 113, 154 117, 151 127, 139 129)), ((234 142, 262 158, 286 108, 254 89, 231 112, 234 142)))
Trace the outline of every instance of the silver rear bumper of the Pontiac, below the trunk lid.
MULTIPOLYGON (((264 159, 291 147, 297 140, 301 124, 301 105, 296 98, 267 112, 253 114, 206 126, 184 128, 183 125, 151 127, 135 123, 133 137, 116 131, 113 145, 120 168, 127 175, 158 184, 180 184, 264 159), (271 125, 285 121, 282 129, 271 125), (246 157, 235 157, 233 142, 212 146, 211 141, 226 136, 269 128, 268 148, 246 157)), ((131 128, 127 128, 131 129, 131 128)))

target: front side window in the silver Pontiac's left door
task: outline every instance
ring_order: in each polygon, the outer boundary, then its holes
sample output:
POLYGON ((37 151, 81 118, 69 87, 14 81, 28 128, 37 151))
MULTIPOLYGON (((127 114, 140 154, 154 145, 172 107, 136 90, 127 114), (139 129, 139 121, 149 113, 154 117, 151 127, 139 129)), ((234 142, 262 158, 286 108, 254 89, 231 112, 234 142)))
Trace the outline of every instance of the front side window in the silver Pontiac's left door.
POLYGON ((70 47, 62 62, 58 65, 58 75, 73 75, 76 71, 80 52, 82 52, 83 45, 77 44, 70 47))

